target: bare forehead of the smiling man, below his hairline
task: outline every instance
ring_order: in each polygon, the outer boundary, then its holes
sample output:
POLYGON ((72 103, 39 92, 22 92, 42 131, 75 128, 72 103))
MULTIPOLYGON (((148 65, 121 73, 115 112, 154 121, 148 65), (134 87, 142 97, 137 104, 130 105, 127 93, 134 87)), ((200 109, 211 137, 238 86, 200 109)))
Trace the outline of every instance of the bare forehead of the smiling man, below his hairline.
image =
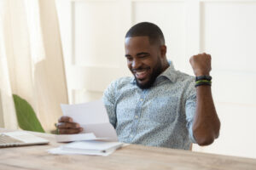
POLYGON ((125 38, 125 50, 131 49, 148 49, 150 48, 149 38, 143 37, 126 37, 125 38))

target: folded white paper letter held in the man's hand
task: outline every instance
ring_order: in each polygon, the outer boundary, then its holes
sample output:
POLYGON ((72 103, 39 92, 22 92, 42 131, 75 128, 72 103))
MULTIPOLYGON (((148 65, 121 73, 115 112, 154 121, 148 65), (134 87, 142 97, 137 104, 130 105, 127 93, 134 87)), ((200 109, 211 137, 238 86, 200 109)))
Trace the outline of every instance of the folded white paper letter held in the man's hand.
POLYGON ((108 113, 101 100, 84 104, 61 105, 61 110, 64 116, 70 116, 73 122, 79 123, 84 131, 79 134, 56 135, 58 142, 96 139, 118 141, 115 129, 109 122, 108 113))

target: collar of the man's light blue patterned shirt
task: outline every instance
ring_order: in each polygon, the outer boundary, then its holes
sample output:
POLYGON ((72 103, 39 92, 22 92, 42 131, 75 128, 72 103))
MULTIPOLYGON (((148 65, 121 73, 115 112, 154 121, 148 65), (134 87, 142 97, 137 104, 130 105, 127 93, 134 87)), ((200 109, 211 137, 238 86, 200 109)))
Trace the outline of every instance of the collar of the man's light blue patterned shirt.
MULTIPOLYGON (((168 62, 169 62, 169 67, 166 69, 166 71, 162 72, 158 77, 156 77, 155 81, 157 81, 157 79, 159 79, 160 77, 166 77, 171 82, 175 82, 176 81, 177 74, 176 74, 176 71, 175 71, 174 66, 172 64, 172 61, 168 61, 168 62)), ((131 83, 132 84, 136 84, 135 77, 131 78, 131 83)))

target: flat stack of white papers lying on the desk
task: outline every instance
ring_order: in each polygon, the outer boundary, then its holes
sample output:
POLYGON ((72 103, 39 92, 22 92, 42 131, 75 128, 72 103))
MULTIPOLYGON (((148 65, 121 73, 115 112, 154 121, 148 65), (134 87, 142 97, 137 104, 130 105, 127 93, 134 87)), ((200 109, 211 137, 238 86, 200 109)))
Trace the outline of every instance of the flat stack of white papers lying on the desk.
POLYGON ((61 155, 93 155, 108 156, 123 144, 119 142, 79 141, 61 145, 59 148, 48 150, 51 154, 61 155))

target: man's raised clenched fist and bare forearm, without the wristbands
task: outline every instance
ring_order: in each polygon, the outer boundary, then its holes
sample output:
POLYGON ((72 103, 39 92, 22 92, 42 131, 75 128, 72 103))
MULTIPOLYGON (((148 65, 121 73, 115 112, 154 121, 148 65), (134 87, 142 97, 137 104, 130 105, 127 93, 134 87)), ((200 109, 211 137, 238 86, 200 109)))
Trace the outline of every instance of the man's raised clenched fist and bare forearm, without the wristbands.
POLYGON ((193 55, 189 62, 192 65, 195 77, 201 77, 201 81, 196 83, 196 111, 193 122, 193 133, 195 140, 200 145, 212 144, 218 138, 220 122, 212 99, 211 91, 211 66, 212 57, 210 54, 193 55))

